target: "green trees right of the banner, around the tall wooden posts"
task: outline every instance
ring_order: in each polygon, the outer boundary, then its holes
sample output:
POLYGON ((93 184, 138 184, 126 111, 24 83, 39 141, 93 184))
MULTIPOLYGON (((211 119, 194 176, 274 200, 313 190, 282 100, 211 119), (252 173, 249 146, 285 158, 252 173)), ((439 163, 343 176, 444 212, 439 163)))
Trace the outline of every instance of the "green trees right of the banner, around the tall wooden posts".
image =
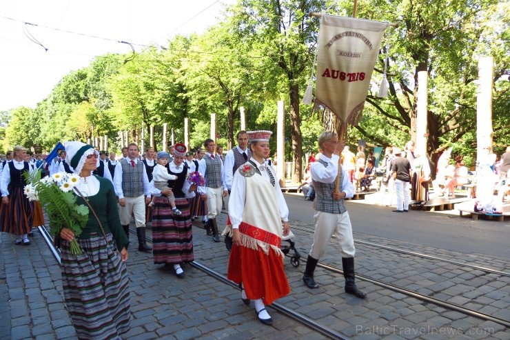
MULTIPOLYGON (((341 1, 347 6, 349 1, 341 1)), ((429 74, 428 152, 435 160, 450 145, 454 152, 474 149, 476 135, 476 79, 478 60, 492 54, 496 62, 493 126, 504 128, 500 112, 508 112, 509 83, 496 81, 509 68, 508 3, 497 0, 360 1, 358 16, 399 22, 389 30, 386 47, 376 71, 383 72, 389 56, 389 97, 376 97, 371 89, 367 101, 379 119, 364 119, 357 127, 364 139, 378 144, 402 143, 396 131, 416 139, 418 72, 429 74), (388 49, 389 48, 389 49, 388 49), (380 128, 389 125, 391 129, 380 128), (389 133, 388 133, 389 132, 389 133), (393 137, 393 138, 392 138, 393 137), (460 147, 462 146, 462 147, 460 147)), ((342 7, 342 5, 340 5, 342 7)), ((504 119, 503 119, 504 120, 504 119)), ((496 143, 507 140, 509 127, 495 134, 496 143), (506 129, 506 130, 505 130, 506 129)), ((399 144, 400 146, 402 144, 399 144)))

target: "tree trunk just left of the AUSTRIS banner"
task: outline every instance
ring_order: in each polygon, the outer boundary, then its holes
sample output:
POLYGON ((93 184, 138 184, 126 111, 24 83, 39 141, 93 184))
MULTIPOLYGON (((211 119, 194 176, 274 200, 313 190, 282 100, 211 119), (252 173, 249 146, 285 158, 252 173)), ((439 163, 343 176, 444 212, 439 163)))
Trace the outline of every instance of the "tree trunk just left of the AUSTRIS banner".
POLYGON ((296 165, 292 174, 292 183, 300 183, 303 168, 303 137, 301 136, 301 117, 299 115, 299 86, 289 79, 290 85, 290 131, 292 135, 292 160, 296 165))

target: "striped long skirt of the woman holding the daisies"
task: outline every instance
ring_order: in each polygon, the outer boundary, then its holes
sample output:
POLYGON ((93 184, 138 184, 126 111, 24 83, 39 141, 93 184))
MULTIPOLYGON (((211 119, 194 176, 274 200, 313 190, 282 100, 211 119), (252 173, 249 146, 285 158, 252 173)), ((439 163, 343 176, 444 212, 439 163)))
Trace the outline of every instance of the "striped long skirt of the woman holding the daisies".
POLYGON ((65 305, 79 339, 121 339, 130 329, 128 270, 116 251, 112 234, 93 233, 76 239, 83 252, 70 254, 61 242, 61 273, 65 305))

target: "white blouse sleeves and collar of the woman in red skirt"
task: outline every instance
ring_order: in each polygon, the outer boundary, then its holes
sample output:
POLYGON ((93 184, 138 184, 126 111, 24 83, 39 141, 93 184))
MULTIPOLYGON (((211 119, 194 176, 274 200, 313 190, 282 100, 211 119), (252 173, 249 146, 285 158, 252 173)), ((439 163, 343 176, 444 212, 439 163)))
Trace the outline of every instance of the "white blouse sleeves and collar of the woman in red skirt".
MULTIPOLYGON (((261 172, 262 177, 269 182, 269 174, 267 173, 268 166, 265 162, 263 164, 258 163, 253 157, 251 160, 255 163, 258 170, 261 172)), ((274 190, 276 191, 276 201, 278 201, 278 211, 280 212, 280 217, 282 221, 289 221, 289 208, 287 208, 287 203, 285 202, 285 198, 283 197, 282 190, 280 188, 280 183, 278 183, 278 179, 276 179, 276 172, 274 169, 271 169, 274 174, 274 190)), ((254 174, 254 176, 259 176, 259 174, 254 174)), ((239 174, 238 171, 234 174, 234 181, 232 181, 232 192, 230 192, 230 199, 228 201, 228 214, 230 217, 230 221, 232 222, 232 228, 238 229, 239 225, 243 221, 243 210, 245 208, 245 200, 246 200, 246 177, 242 174, 239 174)), ((261 212, 262 213, 262 212, 261 212)))

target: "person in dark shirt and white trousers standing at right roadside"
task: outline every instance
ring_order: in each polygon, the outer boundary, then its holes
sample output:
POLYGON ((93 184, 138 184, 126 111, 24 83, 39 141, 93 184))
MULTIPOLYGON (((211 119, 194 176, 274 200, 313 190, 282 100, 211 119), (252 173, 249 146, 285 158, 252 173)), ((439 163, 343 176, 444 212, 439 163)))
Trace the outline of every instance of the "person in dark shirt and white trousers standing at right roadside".
POLYGON ((395 148, 393 153, 396 159, 392 162, 391 171, 395 180, 395 190, 397 192, 397 208, 393 212, 408 212, 409 201, 409 183, 411 181, 411 163, 405 158, 405 152, 395 148))

